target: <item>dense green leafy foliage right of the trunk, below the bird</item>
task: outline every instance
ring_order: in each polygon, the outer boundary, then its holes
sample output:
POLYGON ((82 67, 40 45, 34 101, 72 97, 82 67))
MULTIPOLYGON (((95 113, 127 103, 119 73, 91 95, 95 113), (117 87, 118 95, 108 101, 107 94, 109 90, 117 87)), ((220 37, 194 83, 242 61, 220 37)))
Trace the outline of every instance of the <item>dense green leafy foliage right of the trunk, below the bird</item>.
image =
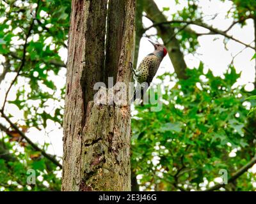
MULTIPOLYGON (((224 79, 204 74, 203 64, 187 73, 189 80, 164 86, 160 112, 136 106, 132 165, 145 190, 205 190, 221 169, 231 176, 255 155, 255 127, 246 127, 248 92, 232 89, 239 78, 234 67, 224 79)), ((250 191, 254 177, 246 173, 227 189, 250 191)))

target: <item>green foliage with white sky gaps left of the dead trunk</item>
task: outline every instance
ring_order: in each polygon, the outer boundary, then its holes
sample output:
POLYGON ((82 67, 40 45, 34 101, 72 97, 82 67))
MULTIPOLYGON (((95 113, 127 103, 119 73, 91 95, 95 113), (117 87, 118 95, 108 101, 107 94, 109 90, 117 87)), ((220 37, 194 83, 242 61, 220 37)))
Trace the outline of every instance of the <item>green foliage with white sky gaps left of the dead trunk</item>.
MULTIPOLYGON (((8 100, 24 115, 16 125, 24 132, 31 127, 45 129, 47 120, 61 126, 65 84, 58 89, 54 76, 63 69, 65 72, 58 53, 67 48, 70 1, 0 1, 0 4, 0 55, 4 59, 1 81, 20 69, 15 81, 16 98, 8 100), (47 110, 52 103, 54 110, 47 110)), ((10 77, 8 80, 9 85, 10 77)), ((5 110, 8 114, 8 106, 5 110)), ((12 119, 13 115, 8 117, 12 119)), ((4 190, 60 190, 60 175, 56 177, 60 167, 35 151, 13 128, 2 134, 0 186, 4 190), (26 185, 27 170, 31 168, 38 176, 35 186, 26 185)), ((45 150, 48 145, 45 143, 41 148, 45 150)))

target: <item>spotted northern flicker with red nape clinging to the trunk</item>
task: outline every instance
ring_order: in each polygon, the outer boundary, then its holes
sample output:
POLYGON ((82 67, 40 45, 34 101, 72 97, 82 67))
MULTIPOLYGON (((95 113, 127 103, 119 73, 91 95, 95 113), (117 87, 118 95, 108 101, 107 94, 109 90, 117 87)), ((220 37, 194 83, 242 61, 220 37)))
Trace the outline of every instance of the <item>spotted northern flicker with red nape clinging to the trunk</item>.
MULTIPOLYGON (((154 43, 151 40, 148 41, 150 41, 150 43, 154 45, 154 52, 144 57, 144 59, 140 62, 140 66, 138 67, 138 69, 132 68, 132 73, 135 80, 140 84, 144 84, 145 82, 147 82, 147 87, 149 87, 150 83, 156 75, 157 69, 159 68, 161 61, 167 54, 167 50, 164 45, 154 43)), ((137 98, 143 98, 143 94, 145 94, 145 92, 147 91, 147 87, 145 88, 141 86, 140 88, 137 88, 136 91, 134 91, 134 96, 131 99, 131 102, 135 101, 137 98)))

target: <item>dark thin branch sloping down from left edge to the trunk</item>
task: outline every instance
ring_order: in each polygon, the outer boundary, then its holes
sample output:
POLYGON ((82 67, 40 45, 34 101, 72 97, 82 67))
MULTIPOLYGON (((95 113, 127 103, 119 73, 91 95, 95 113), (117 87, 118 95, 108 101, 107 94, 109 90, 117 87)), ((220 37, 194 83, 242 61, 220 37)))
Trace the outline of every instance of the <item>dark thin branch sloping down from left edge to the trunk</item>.
MULTIPOLYGON (((38 147, 35 143, 33 143, 28 136, 26 136, 22 131, 20 131, 20 129, 9 119, 9 117, 7 117, 3 110, 0 110, 2 116, 4 119, 7 120, 7 122, 9 122, 10 126, 12 126, 13 129, 15 129, 15 131, 17 131, 17 133, 19 133, 20 137, 23 138, 24 140, 26 140, 26 142, 29 143, 29 145, 31 145, 31 147, 33 147, 33 149, 35 149, 38 152, 41 152, 41 154, 43 156, 45 156, 47 159, 49 159, 50 161, 52 161, 52 163, 56 164, 56 166, 59 166, 60 168, 62 168, 62 165, 50 154, 47 154, 43 149, 41 149, 40 147, 38 147)), ((0 129, 2 129, 4 132, 8 132, 8 129, 5 128, 2 124, 0 124, 0 129)))

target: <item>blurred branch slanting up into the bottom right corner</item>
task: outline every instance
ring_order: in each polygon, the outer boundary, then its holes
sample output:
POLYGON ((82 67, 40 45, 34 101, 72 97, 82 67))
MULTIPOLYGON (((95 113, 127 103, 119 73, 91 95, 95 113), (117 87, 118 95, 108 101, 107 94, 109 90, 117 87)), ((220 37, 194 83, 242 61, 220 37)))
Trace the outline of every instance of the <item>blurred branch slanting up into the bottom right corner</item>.
MULTIPOLYGON (((251 168, 256 163, 256 156, 252 158, 247 164, 245 164, 242 168, 236 171, 230 179, 228 179, 228 183, 234 182, 237 178, 241 177, 244 172, 246 172, 249 168, 251 168)), ((216 184, 215 186, 206 189, 205 191, 215 191, 225 186, 225 184, 216 184)))

